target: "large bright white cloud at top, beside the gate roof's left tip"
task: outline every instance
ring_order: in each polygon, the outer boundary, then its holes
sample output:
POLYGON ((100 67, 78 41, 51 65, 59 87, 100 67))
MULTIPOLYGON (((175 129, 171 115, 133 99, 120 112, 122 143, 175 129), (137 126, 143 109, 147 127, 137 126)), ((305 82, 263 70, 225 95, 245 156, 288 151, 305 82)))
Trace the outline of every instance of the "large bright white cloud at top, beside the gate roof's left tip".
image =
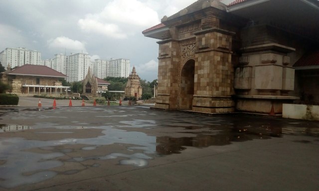
POLYGON ((84 32, 125 39, 159 22, 158 13, 139 0, 113 0, 103 11, 79 19, 78 25, 84 32))

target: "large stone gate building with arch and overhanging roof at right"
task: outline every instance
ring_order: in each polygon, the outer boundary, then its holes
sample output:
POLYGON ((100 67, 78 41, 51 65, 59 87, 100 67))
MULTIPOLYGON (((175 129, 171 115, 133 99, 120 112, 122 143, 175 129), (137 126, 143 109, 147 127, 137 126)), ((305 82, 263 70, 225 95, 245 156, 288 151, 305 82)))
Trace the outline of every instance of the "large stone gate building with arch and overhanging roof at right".
POLYGON ((142 32, 160 40, 155 107, 274 115, 319 102, 319 1, 224 1, 194 1, 142 32))

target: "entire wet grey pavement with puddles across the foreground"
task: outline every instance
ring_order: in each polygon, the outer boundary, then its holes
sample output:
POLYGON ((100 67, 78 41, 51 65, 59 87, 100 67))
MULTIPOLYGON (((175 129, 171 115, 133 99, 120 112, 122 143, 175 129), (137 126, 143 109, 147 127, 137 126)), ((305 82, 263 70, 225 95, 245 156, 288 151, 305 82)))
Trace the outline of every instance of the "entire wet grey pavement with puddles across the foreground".
POLYGON ((318 161, 314 121, 147 106, 0 108, 3 191, 315 191, 318 161))

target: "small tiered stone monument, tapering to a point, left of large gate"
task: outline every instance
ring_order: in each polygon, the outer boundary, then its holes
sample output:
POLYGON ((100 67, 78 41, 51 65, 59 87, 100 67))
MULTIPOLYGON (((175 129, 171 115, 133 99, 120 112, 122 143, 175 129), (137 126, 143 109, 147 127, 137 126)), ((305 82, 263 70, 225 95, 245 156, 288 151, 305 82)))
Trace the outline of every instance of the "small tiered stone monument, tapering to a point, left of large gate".
POLYGON ((139 100, 142 96, 142 87, 140 83, 141 78, 136 73, 135 66, 133 66, 133 71, 129 76, 128 83, 125 88, 125 96, 135 96, 139 100))

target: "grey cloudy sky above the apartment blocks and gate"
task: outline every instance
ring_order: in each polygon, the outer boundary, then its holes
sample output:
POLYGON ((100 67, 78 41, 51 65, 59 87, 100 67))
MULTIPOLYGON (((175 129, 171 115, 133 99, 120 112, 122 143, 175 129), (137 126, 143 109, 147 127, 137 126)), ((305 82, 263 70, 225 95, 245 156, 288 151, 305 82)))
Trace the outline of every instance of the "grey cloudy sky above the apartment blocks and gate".
MULTIPOLYGON (((158 75, 157 39, 142 31, 196 0, 0 0, 0 52, 25 47, 54 54, 127 58, 142 79, 158 75)), ((224 0, 226 3, 232 0, 224 0)))

